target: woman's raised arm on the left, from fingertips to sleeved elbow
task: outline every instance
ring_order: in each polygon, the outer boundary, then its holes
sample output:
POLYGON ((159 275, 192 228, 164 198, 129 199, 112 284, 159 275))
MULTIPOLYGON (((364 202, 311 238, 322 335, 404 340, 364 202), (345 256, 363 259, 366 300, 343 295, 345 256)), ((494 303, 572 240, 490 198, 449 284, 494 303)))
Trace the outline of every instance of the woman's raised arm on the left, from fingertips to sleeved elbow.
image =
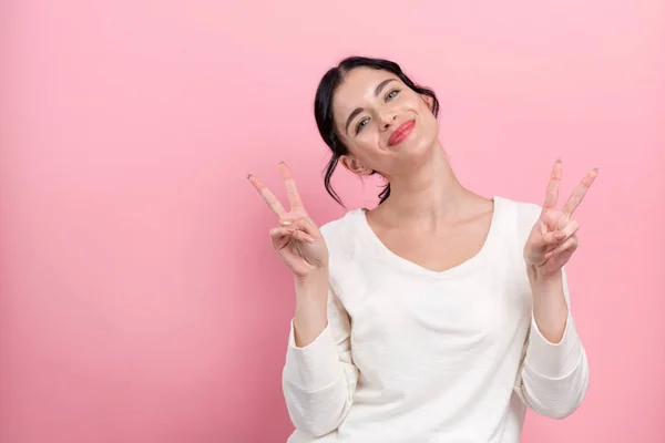
POLYGON ((329 289, 329 253, 321 229, 305 210, 296 182, 280 163, 290 210, 257 177, 247 179, 278 217, 270 229, 273 248, 296 279, 283 389, 296 429, 314 435, 336 430, 351 405, 358 371, 351 361, 350 321, 329 289))

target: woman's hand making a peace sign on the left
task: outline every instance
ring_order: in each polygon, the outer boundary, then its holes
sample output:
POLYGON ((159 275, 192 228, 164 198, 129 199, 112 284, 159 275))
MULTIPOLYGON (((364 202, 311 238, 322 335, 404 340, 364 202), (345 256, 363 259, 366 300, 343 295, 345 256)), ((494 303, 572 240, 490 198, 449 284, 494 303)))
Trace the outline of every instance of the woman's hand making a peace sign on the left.
POLYGON ((286 186, 289 212, 258 178, 249 174, 247 179, 279 222, 279 226, 270 229, 273 248, 296 277, 306 277, 314 270, 327 268, 328 247, 319 228, 305 210, 296 181, 284 162, 279 164, 279 172, 286 186))

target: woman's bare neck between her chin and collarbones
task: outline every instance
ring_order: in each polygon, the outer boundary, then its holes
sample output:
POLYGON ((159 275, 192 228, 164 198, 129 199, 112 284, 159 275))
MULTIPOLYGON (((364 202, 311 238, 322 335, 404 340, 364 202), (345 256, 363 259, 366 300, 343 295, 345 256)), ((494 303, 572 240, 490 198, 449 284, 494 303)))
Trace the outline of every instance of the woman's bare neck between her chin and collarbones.
POLYGON ((461 202, 473 194, 460 184, 438 142, 432 151, 416 172, 390 178, 390 197, 377 208, 382 216, 399 224, 438 224, 459 215, 461 202))

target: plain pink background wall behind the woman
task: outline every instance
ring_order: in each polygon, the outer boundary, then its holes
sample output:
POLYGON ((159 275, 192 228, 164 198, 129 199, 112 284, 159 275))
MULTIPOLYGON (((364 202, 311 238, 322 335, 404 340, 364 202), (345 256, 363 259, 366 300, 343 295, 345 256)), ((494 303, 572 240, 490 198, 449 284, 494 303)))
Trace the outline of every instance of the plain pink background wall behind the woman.
POLYGON ((241 3, 0 2, 0 441, 285 441, 293 282, 245 174, 284 196, 284 159, 342 214, 311 102, 361 53, 437 91, 481 194, 600 167, 569 266, 590 391, 523 442, 664 442, 665 3, 241 3))

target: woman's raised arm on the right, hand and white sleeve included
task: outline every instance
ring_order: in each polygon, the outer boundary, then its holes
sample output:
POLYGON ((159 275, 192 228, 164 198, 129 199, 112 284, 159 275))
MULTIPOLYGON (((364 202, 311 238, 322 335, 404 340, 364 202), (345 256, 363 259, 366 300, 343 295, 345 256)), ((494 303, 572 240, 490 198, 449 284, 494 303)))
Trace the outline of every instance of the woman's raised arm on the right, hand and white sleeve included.
POLYGON ((553 419, 572 414, 589 384, 589 364, 570 312, 564 265, 577 249, 572 218, 597 169, 586 174, 557 209, 561 161, 552 168, 542 208, 528 206, 518 219, 526 276, 533 296, 531 330, 520 369, 520 393, 535 412, 553 419))

